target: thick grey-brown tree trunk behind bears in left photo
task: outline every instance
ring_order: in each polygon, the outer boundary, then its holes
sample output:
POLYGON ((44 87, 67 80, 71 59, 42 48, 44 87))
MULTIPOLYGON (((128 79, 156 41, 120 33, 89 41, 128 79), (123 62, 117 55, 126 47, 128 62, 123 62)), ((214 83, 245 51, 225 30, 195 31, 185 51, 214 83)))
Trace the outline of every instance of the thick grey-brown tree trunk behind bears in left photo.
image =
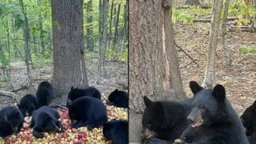
POLYGON ((88 86, 84 58, 82 0, 52 0, 54 103, 66 104, 71 86, 88 86), (56 25, 57 23, 57 25, 56 25))

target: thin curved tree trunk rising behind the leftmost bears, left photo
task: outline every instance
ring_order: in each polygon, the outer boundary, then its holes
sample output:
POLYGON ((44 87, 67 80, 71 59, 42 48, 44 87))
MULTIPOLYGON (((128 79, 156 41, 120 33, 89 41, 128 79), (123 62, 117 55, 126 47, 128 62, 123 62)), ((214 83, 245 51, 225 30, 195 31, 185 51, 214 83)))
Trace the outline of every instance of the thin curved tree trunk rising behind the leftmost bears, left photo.
POLYGON ((30 73, 30 61, 31 61, 31 64, 32 64, 32 60, 31 60, 30 48, 29 48, 30 28, 29 28, 29 22, 28 22, 28 19, 26 17, 26 12, 25 12, 22 0, 19 0, 19 4, 22 7, 22 12, 23 12, 24 17, 25 17, 25 21, 24 21, 24 24, 22 26, 23 38, 25 40, 25 44, 24 44, 25 63, 26 63, 26 72, 27 72, 27 77, 28 77, 28 81, 29 81, 29 86, 32 86, 32 77, 31 77, 31 73, 30 73))

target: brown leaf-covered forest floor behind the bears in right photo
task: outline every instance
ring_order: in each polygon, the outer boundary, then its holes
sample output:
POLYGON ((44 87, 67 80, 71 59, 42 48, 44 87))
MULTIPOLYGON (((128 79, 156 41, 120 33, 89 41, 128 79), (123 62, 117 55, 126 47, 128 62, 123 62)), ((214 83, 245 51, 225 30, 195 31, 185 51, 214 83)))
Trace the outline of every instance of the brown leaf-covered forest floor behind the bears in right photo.
MULTIPOLYGON (((183 87, 186 95, 191 96, 189 82, 194 80, 202 83, 204 78, 210 23, 177 23, 174 30, 175 42, 198 63, 198 66, 195 63, 186 66, 191 60, 178 49, 183 87)), ((242 54, 239 49, 242 46, 252 46, 256 49, 256 34, 241 31, 228 32, 227 46, 234 58, 235 64, 233 66, 226 66, 225 64, 221 40, 219 37, 215 80, 216 83, 226 87, 227 98, 241 115, 256 100, 256 54, 242 54)))

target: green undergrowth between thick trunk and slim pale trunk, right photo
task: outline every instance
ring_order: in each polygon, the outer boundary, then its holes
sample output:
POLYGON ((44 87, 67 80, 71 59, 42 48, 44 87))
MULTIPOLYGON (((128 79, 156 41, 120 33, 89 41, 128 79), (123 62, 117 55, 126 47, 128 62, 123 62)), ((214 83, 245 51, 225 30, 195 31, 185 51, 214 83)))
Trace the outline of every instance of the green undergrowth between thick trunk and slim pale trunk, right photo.
POLYGON ((202 9, 200 6, 188 6, 187 9, 175 9, 173 10, 173 21, 190 23, 194 19, 211 14, 211 9, 202 9))

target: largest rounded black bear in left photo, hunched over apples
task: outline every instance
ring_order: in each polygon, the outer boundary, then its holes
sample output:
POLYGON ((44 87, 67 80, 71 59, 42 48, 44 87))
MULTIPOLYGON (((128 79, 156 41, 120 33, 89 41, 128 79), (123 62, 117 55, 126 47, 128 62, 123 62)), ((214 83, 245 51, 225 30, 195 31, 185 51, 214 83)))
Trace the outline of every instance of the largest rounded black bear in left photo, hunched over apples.
POLYGON ((81 97, 68 102, 72 128, 88 126, 90 130, 107 122, 106 106, 97 98, 81 97))

